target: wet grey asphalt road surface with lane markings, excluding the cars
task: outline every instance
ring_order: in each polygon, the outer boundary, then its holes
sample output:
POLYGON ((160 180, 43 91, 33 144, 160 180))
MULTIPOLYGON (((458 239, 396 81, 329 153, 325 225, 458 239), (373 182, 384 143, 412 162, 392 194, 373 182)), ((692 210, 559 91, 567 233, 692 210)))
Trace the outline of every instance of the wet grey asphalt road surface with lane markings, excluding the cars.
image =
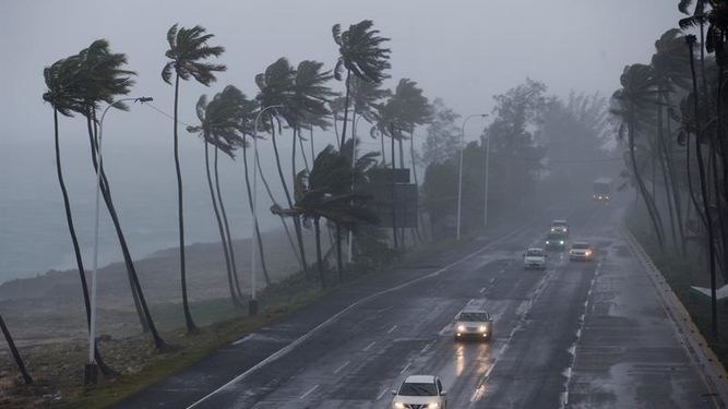
POLYGON ((122 402, 159 408, 389 408, 402 380, 438 374, 449 408, 723 407, 622 238, 614 205, 551 208, 386 278, 338 291, 122 402), (568 218, 594 262, 523 250, 568 218), (490 342, 460 342, 453 316, 473 299, 490 342), (358 300, 358 301, 357 301, 358 300))

